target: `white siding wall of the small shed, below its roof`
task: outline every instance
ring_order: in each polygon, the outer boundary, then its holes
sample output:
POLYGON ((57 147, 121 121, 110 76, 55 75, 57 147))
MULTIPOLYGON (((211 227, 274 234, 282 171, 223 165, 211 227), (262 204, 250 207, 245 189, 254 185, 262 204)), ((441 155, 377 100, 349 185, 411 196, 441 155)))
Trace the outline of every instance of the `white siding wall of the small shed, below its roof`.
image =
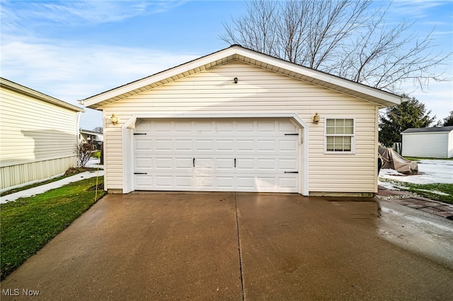
POLYGON ((406 133, 402 136, 403 156, 448 158, 449 133, 406 133))

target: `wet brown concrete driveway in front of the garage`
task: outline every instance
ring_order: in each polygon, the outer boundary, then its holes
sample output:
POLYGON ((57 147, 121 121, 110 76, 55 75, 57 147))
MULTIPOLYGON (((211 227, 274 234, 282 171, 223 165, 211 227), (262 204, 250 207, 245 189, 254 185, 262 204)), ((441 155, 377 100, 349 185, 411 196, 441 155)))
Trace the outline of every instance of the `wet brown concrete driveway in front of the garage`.
POLYGON ((109 194, 2 281, 1 299, 451 298, 452 268, 384 240, 380 219, 370 199, 109 194))

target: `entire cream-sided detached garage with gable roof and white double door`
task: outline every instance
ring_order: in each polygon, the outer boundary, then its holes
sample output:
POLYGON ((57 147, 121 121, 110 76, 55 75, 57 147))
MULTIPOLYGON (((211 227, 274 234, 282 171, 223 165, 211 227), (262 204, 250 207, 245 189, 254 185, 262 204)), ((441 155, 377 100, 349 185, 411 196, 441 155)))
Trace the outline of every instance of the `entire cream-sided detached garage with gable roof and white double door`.
POLYGON ((401 101, 232 45, 82 102, 103 111, 112 193, 369 196, 379 109, 401 101))

